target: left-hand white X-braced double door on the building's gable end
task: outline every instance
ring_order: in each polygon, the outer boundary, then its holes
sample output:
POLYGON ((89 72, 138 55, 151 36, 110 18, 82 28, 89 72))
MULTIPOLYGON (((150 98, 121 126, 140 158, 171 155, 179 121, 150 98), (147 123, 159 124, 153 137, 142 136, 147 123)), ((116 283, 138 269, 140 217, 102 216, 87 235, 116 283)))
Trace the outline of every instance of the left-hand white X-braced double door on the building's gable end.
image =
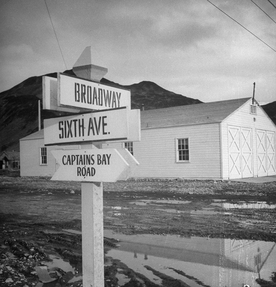
POLYGON ((253 177, 252 129, 228 125, 229 179, 253 177))

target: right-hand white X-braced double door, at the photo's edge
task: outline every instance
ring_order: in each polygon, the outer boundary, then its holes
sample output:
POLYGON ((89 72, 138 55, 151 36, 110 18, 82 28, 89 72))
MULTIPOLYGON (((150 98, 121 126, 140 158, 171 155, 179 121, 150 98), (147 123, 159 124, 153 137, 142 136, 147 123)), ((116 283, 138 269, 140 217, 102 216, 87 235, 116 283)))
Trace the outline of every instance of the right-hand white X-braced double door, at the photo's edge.
POLYGON ((276 175, 275 132, 256 130, 258 176, 276 175))

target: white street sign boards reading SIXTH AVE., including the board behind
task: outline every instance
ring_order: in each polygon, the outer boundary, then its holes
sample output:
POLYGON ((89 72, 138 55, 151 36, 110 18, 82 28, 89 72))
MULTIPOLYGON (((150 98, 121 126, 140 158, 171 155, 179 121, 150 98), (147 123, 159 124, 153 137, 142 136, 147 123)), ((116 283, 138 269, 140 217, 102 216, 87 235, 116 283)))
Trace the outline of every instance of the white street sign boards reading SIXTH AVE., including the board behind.
POLYGON ((141 140, 139 109, 122 107, 44 120, 45 146, 114 140, 141 140))

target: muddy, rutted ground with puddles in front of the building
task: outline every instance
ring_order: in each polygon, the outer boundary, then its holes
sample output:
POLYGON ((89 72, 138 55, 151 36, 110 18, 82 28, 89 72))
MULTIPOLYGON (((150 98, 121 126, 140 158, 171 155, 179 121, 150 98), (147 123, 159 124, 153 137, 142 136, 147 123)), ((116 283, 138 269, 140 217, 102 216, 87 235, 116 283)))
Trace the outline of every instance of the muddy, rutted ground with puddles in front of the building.
MULTIPOLYGON (((0 181, 0 285, 81 286, 80 183, 0 181)), ((275 204, 276 182, 104 183, 105 286, 275 286, 275 204)))

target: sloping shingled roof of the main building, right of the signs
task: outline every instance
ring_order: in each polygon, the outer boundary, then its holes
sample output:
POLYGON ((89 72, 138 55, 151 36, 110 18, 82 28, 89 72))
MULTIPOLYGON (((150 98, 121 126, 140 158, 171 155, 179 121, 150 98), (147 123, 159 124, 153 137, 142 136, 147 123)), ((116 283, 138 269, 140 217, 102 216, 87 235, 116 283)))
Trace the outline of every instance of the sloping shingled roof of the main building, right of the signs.
POLYGON ((220 123, 251 98, 141 111, 141 129, 220 123))

